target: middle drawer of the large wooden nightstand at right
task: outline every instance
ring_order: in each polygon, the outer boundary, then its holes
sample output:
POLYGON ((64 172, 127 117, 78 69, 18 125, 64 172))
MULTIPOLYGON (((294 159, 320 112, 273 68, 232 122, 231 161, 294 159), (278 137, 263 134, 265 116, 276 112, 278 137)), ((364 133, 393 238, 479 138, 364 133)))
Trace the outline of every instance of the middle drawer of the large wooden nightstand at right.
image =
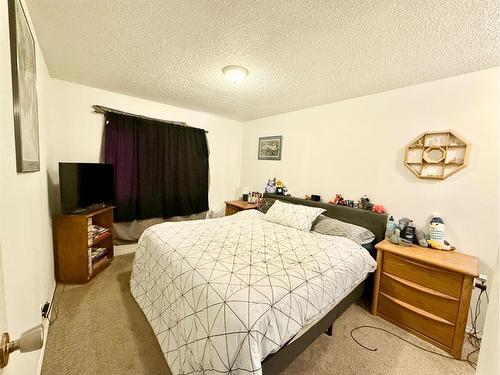
POLYGON ((380 291, 451 323, 457 320, 458 299, 455 297, 385 273, 380 277, 380 291))

